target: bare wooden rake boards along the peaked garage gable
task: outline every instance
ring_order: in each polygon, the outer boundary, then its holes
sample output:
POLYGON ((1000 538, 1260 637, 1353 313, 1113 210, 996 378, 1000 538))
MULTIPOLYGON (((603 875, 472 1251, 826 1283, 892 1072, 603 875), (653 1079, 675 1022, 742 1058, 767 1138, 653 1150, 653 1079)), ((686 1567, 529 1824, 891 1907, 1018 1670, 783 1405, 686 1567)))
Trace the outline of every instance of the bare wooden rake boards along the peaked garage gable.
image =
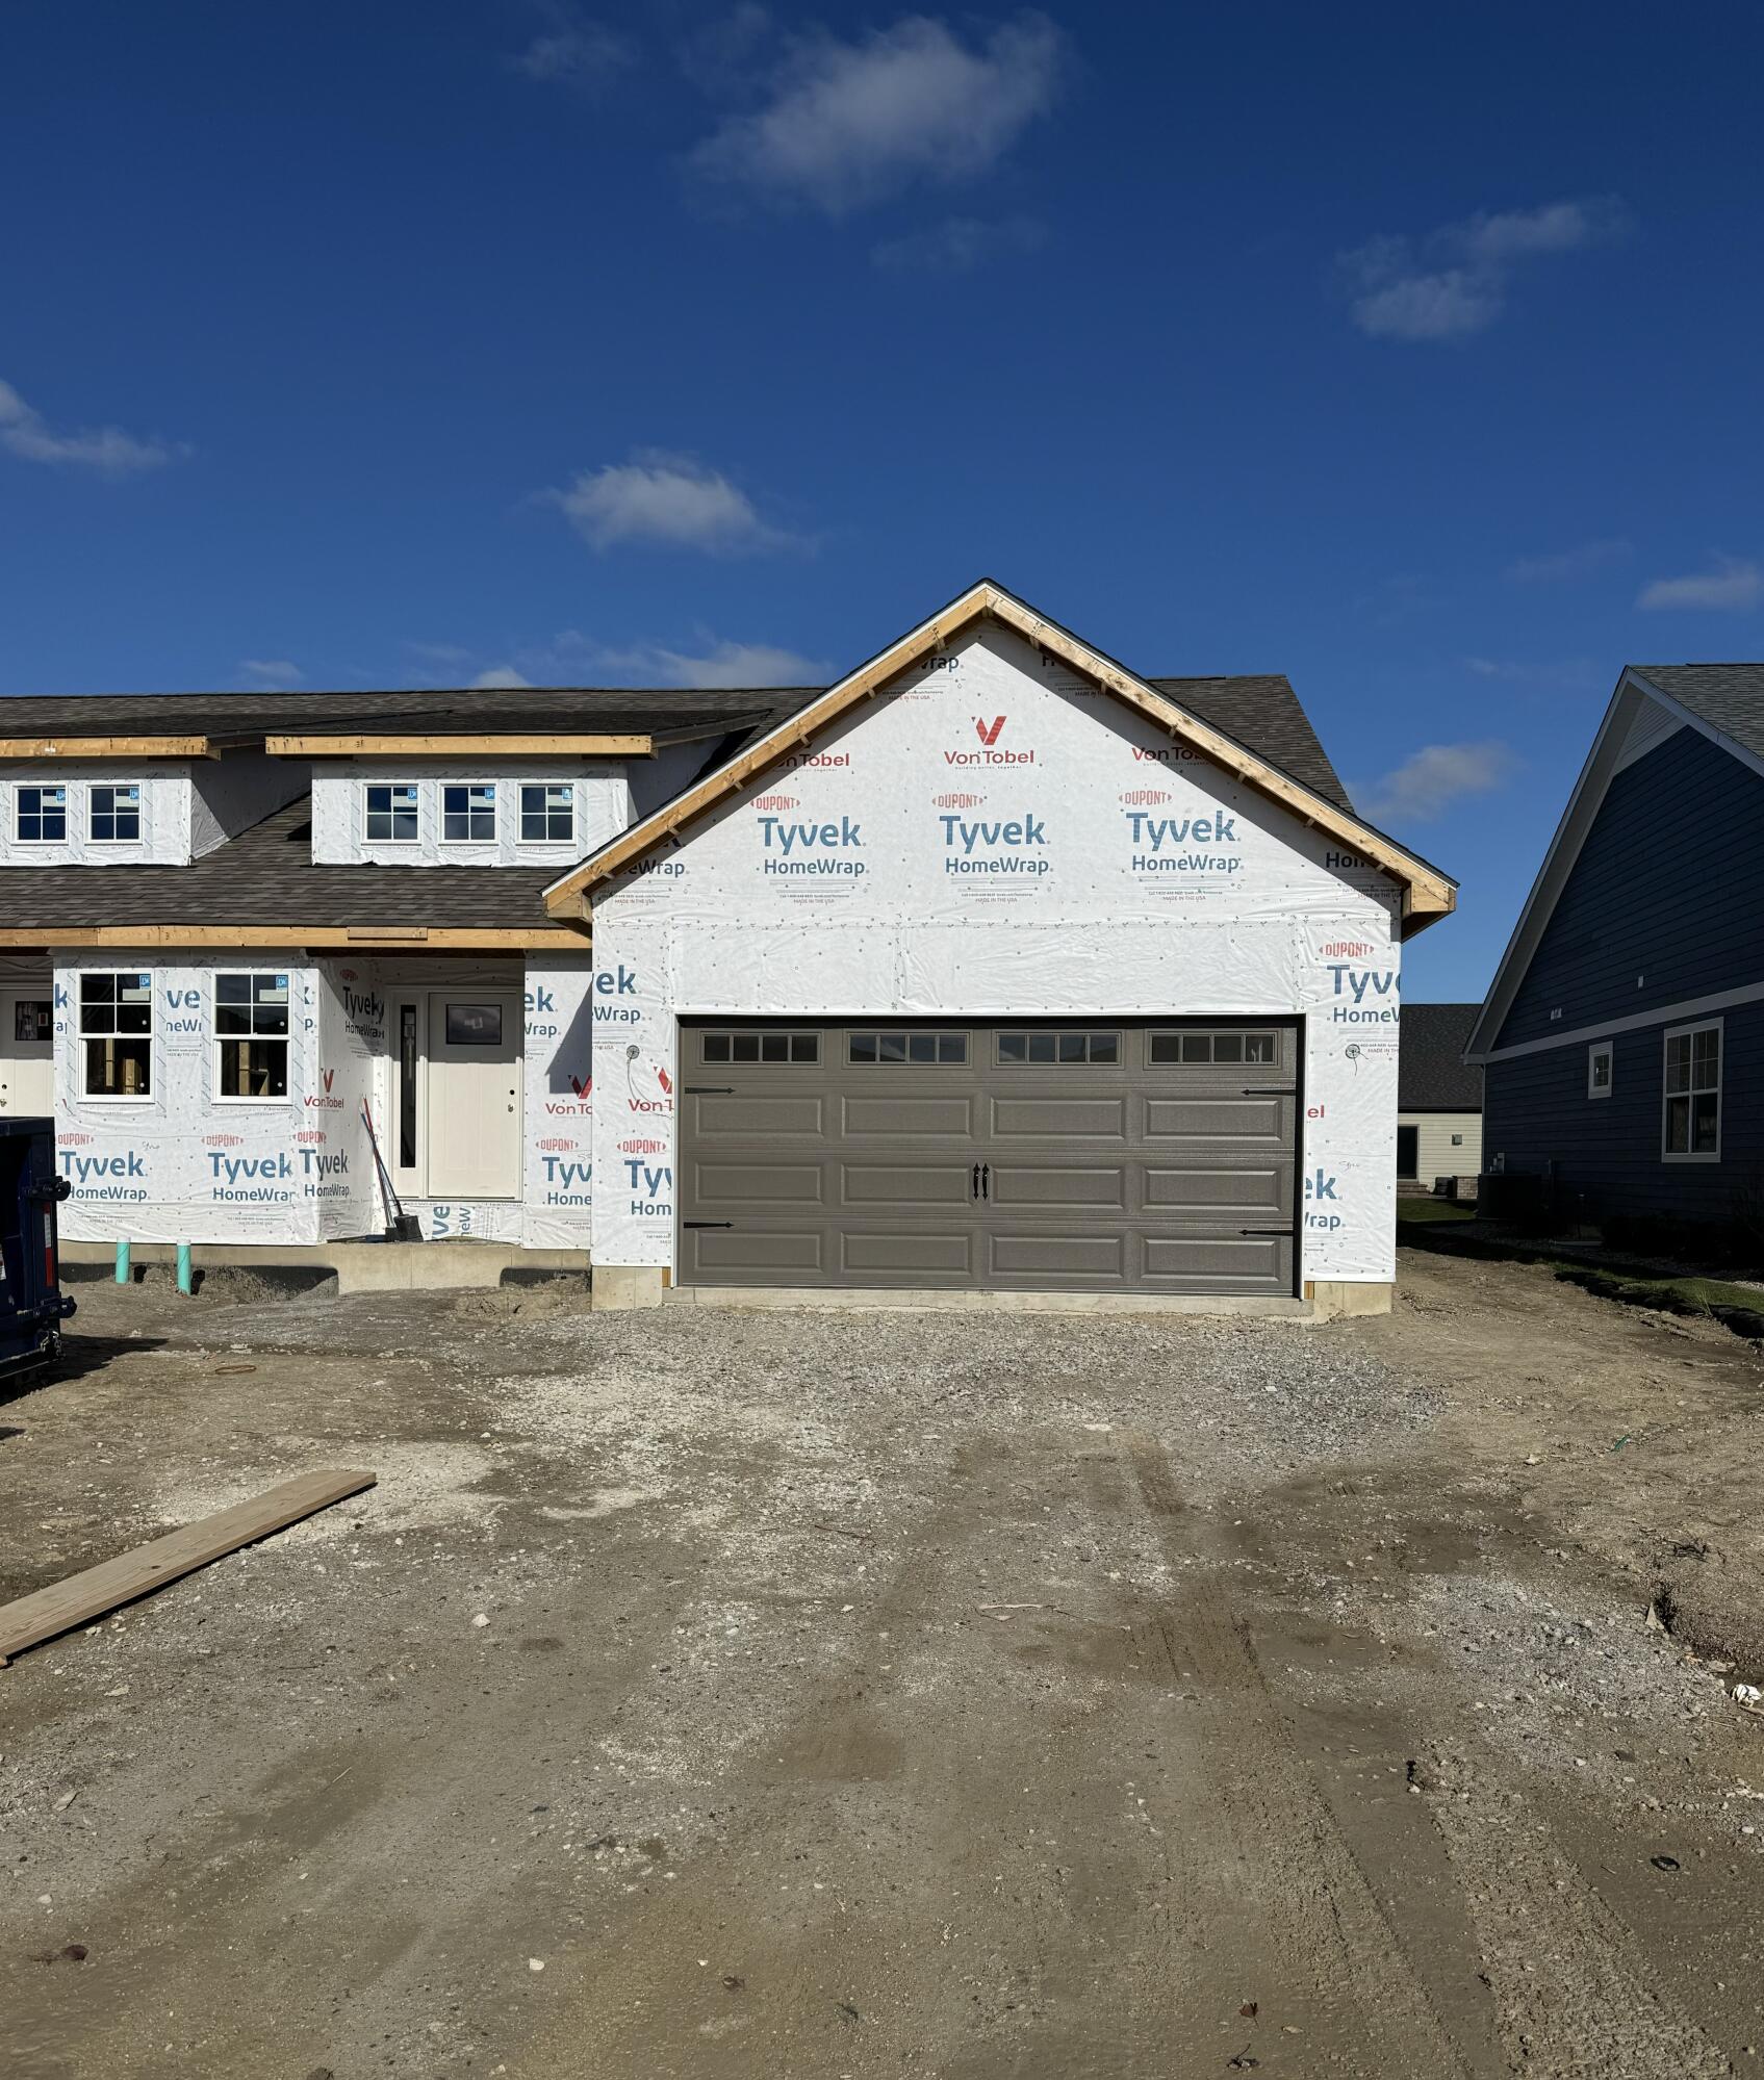
MULTIPOLYGON (((965 593, 959 593, 938 614, 932 614, 930 620, 919 622, 917 628, 909 630, 897 643, 878 651, 867 664, 861 664, 855 672, 847 674, 847 678, 805 703, 786 722, 759 732, 751 745, 743 747, 732 759, 716 768, 697 786, 691 786, 684 795, 664 803, 664 807, 655 809, 651 815, 632 824, 630 830, 614 838, 612 844, 601 847, 599 853, 585 859, 578 867, 572 867, 566 876, 553 882, 551 888, 547 888, 545 907, 549 913, 553 917, 587 917, 589 888, 607 880, 612 874, 618 874, 651 847, 674 838, 682 826, 695 822, 716 803, 745 786, 751 778, 805 745, 818 730, 826 728, 849 707, 855 707, 859 701, 880 693, 919 657, 936 653, 953 636, 982 620, 994 620, 1005 628, 1013 628, 1028 643, 1034 643, 1042 651, 1059 657, 1094 686, 1115 695, 1115 699, 1127 707, 1138 709, 1142 716, 1159 724, 1159 728, 1169 730, 1171 736, 1182 738, 1217 765, 1223 765, 1238 780, 1254 786, 1259 792, 1296 813, 1306 824, 1327 830, 1350 851, 1371 859, 1373 865, 1381 867, 1402 884, 1404 938, 1433 924, 1437 917, 1450 915, 1456 907, 1456 882, 1442 874, 1439 867, 1421 859, 1417 853, 1400 847, 1394 838, 1373 830, 1371 824, 1360 822, 1348 805, 1346 792, 1342 790, 1340 780, 1335 780, 1333 768, 1329 768, 1327 774, 1333 782, 1333 795, 1319 788, 1317 782, 1321 782, 1321 774, 1315 774, 1313 782, 1304 782, 1283 772, 1281 765, 1267 753, 1242 743, 1219 722, 1207 720, 1204 693, 1200 699, 1194 699, 1190 691, 1190 697, 1184 699, 1182 693, 1163 691, 1152 684, 1152 680, 1138 678, 1113 657, 1084 643, 1069 628, 1063 628, 1059 622, 1038 614, 1026 601, 1017 599, 1015 593, 1007 593, 1005 587, 994 584, 990 578, 982 578, 978 584, 967 587, 965 593)), ((1171 688, 1221 688, 1225 684, 1231 682, 1167 682, 1171 688)), ((1267 697, 1275 686, 1283 686, 1286 695, 1292 695, 1292 688, 1283 678, 1265 680, 1261 684, 1263 697, 1267 697)), ((1292 705, 1296 707, 1298 703, 1294 701, 1292 705)), ((1304 724, 1304 732, 1311 736, 1311 743, 1315 743, 1308 722, 1304 724)), ((1304 747, 1296 740, 1290 749, 1304 757, 1304 747)), ((1317 757, 1321 759, 1321 745, 1317 747, 1317 757)), ((1327 765, 1327 759, 1323 759, 1323 765, 1327 765)))

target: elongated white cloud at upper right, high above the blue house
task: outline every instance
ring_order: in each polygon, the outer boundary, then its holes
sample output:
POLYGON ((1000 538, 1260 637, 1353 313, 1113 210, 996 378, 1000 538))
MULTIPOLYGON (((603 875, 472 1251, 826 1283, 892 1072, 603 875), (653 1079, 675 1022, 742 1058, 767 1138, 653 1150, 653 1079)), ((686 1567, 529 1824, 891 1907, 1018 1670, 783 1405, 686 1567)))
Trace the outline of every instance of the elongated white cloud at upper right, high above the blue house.
POLYGON ((1506 308, 1512 268, 1618 237, 1614 196, 1477 214, 1421 239, 1377 237, 1340 256, 1354 324, 1371 339, 1460 339, 1506 308))

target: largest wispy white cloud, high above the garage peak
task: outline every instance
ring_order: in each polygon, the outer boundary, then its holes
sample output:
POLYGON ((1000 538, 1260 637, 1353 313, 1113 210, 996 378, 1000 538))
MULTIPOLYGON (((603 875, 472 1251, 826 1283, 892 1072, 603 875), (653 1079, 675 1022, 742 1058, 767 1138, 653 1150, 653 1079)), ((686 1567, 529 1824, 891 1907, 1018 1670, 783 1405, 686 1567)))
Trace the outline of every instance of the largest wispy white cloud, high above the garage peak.
POLYGON ((994 166, 1059 87, 1063 42, 1023 15, 969 48, 909 15, 859 42, 799 42, 770 100, 730 116, 691 158, 707 181, 828 216, 994 166))

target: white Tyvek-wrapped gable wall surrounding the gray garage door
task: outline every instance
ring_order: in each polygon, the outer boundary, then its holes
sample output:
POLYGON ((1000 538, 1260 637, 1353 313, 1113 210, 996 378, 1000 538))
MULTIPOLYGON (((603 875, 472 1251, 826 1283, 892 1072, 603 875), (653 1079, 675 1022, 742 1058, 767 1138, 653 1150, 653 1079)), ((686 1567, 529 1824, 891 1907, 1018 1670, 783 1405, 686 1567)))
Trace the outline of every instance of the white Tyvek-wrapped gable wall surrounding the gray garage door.
POLYGON ((674 1260, 676 1017, 1302 1015, 1302 1277, 1394 1275, 1396 884, 1003 630, 595 896, 603 1265, 674 1260))

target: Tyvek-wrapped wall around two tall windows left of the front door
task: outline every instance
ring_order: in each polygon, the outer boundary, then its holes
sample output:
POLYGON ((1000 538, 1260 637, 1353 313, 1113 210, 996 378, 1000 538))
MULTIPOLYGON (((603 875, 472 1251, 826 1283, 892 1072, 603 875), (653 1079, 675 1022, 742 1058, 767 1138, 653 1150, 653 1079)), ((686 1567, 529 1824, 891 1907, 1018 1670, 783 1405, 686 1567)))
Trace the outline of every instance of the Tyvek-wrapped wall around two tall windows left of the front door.
POLYGON ((71 1240, 318 1242, 381 1229, 370 1213, 358 1225, 370 1181, 354 1096, 360 1067, 327 980, 310 961, 273 951, 233 955, 225 967, 289 978, 285 1102, 216 1096, 214 965, 108 948, 56 957, 56 1140, 73 1186, 60 1225, 71 1240), (152 976, 146 1098, 81 1092, 79 978, 87 969, 152 976), (337 1040, 333 1057, 327 1032, 337 1040))

